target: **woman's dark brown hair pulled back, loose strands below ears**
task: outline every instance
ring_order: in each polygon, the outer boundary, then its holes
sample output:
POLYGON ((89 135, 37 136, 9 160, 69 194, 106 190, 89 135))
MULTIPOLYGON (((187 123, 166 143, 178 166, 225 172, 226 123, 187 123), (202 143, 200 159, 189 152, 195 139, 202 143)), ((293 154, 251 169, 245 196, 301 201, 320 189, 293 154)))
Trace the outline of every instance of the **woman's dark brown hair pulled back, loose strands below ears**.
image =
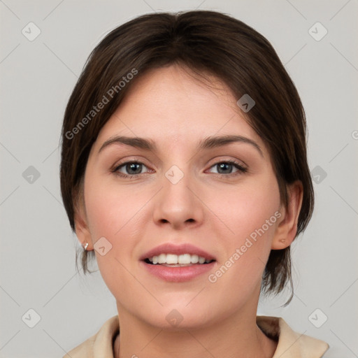
MULTIPOLYGON (((185 65, 203 77, 210 73, 226 83, 237 99, 249 94, 255 100, 245 118, 268 147, 281 202, 287 206, 287 185, 295 180, 303 184, 298 236, 306 229, 314 204, 299 94, 264 36, 234 17, 209 10, 136 17, 110 31, 90 54, 62 127, 61 191, 73 231, 87 159, 99 131, 143 73, 171 64, 185 65)), ((82 253, 84 273, 91 272, 88 255, 93 258, 94 252, 82 253)), ((77 259, 78 252, 76 266, 77 259)), ((278 294, 287 281, 292 294, 286 305, 293 296, 290 248, 271 250, 262 290, 278 294)))

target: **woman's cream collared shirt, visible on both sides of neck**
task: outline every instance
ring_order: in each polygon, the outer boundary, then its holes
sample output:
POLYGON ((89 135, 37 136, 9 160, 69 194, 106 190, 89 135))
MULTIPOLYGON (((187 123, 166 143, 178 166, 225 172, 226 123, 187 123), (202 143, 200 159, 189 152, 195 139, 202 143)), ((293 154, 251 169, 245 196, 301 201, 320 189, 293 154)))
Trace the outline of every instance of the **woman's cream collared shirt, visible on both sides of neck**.
MULTIPOLYGON (((278 341, 272 358, 320 358, 329 349, 326 342, 293 331, 282 317, 257 316, 256 323, 266 336, 278 341)), ((114 358, 113 342, 119 329, 118 316, 115 315, 94 336, 62 358, 114 358)))

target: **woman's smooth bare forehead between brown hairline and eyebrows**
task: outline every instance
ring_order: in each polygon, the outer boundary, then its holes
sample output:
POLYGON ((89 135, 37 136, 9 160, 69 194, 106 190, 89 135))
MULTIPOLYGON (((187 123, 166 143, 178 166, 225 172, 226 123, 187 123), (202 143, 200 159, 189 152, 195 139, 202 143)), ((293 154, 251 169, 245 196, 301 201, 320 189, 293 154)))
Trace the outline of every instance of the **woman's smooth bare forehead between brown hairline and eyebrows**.
POLYGON ((173 145, 196 145, 208 136, 239 135, 257 142, 264 151, 262 139, 236 101, 213 76, 193 76, 178 65, 154 69, 136 79, 101 129, 95 146, 99 150, 108 138, 122 135, 151 138, 169 150, 173 145))

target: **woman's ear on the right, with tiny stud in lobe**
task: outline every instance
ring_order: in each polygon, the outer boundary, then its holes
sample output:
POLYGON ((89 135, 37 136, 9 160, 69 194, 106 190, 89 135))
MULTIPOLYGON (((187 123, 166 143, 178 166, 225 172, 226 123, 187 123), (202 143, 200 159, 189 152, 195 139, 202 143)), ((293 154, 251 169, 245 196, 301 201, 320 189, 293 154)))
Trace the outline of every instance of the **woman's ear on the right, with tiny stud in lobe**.
POLYGON ((301 211, 303 198, 303 185, 296 180, 288 187, 289 201, 287 208, 282 206, 281 220, 276 227, 271 250, 282 250, 292 244, 297 232, 297 222, 301 211))

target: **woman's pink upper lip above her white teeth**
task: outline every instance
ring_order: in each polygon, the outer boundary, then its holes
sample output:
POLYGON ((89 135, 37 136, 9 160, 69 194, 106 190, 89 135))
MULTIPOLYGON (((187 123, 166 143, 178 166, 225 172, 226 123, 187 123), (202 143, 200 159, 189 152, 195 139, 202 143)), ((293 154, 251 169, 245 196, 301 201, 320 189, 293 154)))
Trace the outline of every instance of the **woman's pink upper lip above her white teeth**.
POLYGON ((205 257, 209 260, 215 260, 213 255, 210 255, 205 250, 201 248, 197 248, 196 246, 192 245, 191 243, 181 243, 179 245, 174 245, 173 243, 164 243, 159 245, 155 248, 152 248, 145 254, 141 255, 141 260, 148 259, 149 257, 159 256, 160 254, 173 254, 173 255, 198 255, 200 257, 205 257))

